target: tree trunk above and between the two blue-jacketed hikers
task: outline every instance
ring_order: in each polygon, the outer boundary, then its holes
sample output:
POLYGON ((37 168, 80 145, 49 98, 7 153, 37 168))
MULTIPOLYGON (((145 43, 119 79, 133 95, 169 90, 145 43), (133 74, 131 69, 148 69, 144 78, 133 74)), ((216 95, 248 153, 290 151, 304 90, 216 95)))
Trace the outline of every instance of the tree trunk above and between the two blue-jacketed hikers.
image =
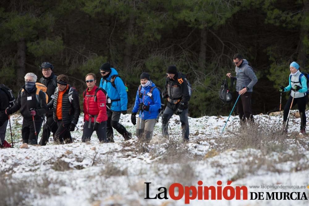
MULTIPOLYGON (((132 8, 133 9, 133 8, 132 8)), ((128 37, 125 44, 124 57, 123 57, 123 69, 128 71, 131 61, 132 61, 132 40, 133 36, 133 25, 134 25, 134 14, 133 11, 130 13, 129 22, 128 22, 128 37)))

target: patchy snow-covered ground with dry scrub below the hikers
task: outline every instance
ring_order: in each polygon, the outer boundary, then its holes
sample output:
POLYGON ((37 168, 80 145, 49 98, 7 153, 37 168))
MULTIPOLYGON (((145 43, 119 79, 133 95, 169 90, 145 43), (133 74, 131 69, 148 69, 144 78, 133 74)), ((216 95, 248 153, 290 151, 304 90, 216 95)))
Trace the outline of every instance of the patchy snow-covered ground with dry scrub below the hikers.
MULTIPOLYGON (((13 115, 14 148, 0 149, 0 191, 6 191, 0 198, 6 198, 7 205, 184 205, 184 197, 181 200, 172 200, 169 195, 169 199, 163 200, 144 199, 145 182, 151 183, 149 196, 154 197, 163 191, 158 191, 159 187, 166 187, 167 192, 172 183, 197 188, 199 180, 202 186, 216 188, 220 180, 222 189, 232 180, 232 187, 247 186, 248 195, 249 192, 305 192, 309 198, 307 188, 249 188, 253 185, 309 185, 309 138, 300 139, 297 135, 300 119, 290 117, 289 134, 283 145, 286 148, 275 144, 270 151, 264 147, 274 141, 265 143, 262 137, 257 143, 263 145, 261 148, 229 148, 227 140, 235 144, 233 139, 243 136, 237 116, 230 117, 221 136, 226 119, 226 116, 189 118, 190 142, 187 144, 182 143, 180 121, 175 115, 169 121, 170 140, 160 135, 159 120, 148 145, 137 141, 135 136, 124 142, 115 130, 115 143, 99 143, 94 133, 91 142, 86 144, 81 142, 81 115, 78 130, 71 132, 74 143, 56 145, 50 137, 46 146, 29 145, 29 149, 19 149, 22 117, 13 115), (278 148, 273 148, 276 146, 278 148)), ((278 116, 256 115, 255 122, 263 128, 279 127, 278 116)), ((122 115, 121 124, 135 133, 130 115, 122 115)), ((248 136, 259 138, 259 134, 256 130, 256 134, 248 136)), ((11 142, 9 125, 6 140, 11 142)), ((196 199, 189 205, 308 205, 308 200, 196 199)))

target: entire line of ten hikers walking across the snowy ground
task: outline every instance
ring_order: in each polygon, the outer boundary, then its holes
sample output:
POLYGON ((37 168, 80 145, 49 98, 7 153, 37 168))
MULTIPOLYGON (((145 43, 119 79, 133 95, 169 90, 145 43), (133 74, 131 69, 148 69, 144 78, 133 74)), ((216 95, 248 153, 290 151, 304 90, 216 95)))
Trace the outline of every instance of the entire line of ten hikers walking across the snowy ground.
MULTIPOLYGON (((238 98, 234 107, 237 108, 240 124, 246 120, 252 123, 254 118, 251 97, 252 88, 256 84, 257 78, 252 67, 248 65, 248 61, 241 54, 234 55, 233 64, 236 77, 233 77, 231 73, 227 73, 226 76, 231 78, 232 85, 236 81, 238 98)), ((23 143, 38 144, 42 124, 43 132, 40 145, 47 144, 51 133, 53 133, 56 143, 73 142, 70 132, 75 130, 80 115, 78 91, 70 86, 68 76, 63 74, 56 76, 53 73, 54 67, 49 62, 42 63, 40 69, 43 74, 40 83, 36 82, 37 76, 35 74, 25 75, 25 85, 19 90, 16 102, 12 91, 5 85, 0 85, 2 97, 0 98, 0 147, 10 147, 10 144, 5 141, 6 127, 8 121, 10 122, 10 115, 18 110, 23 116, 23 143)), ((125 141, 130 140, 132 133, 119 123, 121 114, 127 113, 128 88, 116 69, 112 68, 109 63, 101 65, 99 72, 102 76, 99 87, 96 86, 94 73, 85 76, 87 89, 83 92, 82 142, 90 141, 94 131, 100 142, 114 142, 113 129, 116 129, 125 141)), ((305 134, 309 74, 300 72, 298 63, 294 61, 290 64, 290 72, 289 85, 279 88, 281 95, 282 92, 291 91, 284 107, 282 131, 287 132, 290 110, 297 104, 301 116, 300 134, 305 134)), ((141 84, 136 92, 131 122, 136 125, 135 133, 141 141, 149 142, 151 140, 155 124, 160 116, 162 116, 162 135, 168 138, 168 121, 173 114, 180 116, 182 140, 189 141, 188 107, 192 93, 191 85, 175 65, 168 66, 166 75, 163 92, 151 80, 150 74, 143 72, 140 75, 141 84), (165 108, 163 99, 167 99, 165 108), (136 115, 138 115, 138 119, 136 119, 136 115)), ((220 90, 220 98, 223 101, 231 101, 231 94, 226 89, 225 82, 222 86, 223 89, 220 90)), ((224 128, 222 132, 223 130, 224 128)))

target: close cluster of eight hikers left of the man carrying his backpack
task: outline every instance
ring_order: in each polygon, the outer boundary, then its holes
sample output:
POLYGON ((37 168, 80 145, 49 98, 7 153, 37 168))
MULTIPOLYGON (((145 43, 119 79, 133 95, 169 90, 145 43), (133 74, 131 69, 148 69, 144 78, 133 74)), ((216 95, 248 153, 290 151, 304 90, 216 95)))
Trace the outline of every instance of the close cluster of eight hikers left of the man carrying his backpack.
MULTIPOLYGON (((10 144, 5 141, 6 127, 10 115, 19 110, 23 116, 21 131, 23 143, 46 145, 51 133, 55 143, 73 142, 70 132, 75 130, 81 111, 78 91, 70 85, 68 76, 54 74, 51 63, 42 63, 40 69, 43 77, 39 82, 36 82, 36 74, 25 75, 25 85, 19 90, 16 99, 12 95, 12 90, 5 85, 0 85, 2 97, 0 99, 0 147, 2 148, 10 147, 10 144), (43 131, 38 142, 42 124, 43 131)), ((119 123, 121 114, 127 113, 128 88, 116 69, 109 63, 104 63, 99 71, 102 76, 99 87, 96 86, 94 73, 85 76, 87 89, 83 92, 82 142, 90 141, 94 131, 100 142, 114 142, 113 129, 116 129, 125 141, 130 140, 132 133, 119 123)), ((152 82, 150 74, 143 72, 140 80, 141 84, 138 86, 131 113, 131 122, 136 125, 138 139, 146 142, 151 140, 155 123, 161 115, 162 134, 168 138, 168 120, 176 114, 180 116, 183 141, 188 142, 188 102, 192 90, 185 75, 178 72, 175 65, 168 66, 163 93, 152 82), (167 99, 165 109, 163 98, 167 99)))

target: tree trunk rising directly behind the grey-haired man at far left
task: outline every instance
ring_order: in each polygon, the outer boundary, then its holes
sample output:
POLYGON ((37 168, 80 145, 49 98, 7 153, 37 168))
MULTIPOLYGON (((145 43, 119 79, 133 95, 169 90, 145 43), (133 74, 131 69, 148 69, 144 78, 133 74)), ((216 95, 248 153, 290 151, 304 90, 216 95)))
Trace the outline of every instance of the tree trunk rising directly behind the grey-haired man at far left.
POLYGON ((25 79, 25 72, 26 72, 26 43, 25 39, 21 38, 19 42, 17 42, 17 80, 16 86, 21 87, 24 85, 25 79))

